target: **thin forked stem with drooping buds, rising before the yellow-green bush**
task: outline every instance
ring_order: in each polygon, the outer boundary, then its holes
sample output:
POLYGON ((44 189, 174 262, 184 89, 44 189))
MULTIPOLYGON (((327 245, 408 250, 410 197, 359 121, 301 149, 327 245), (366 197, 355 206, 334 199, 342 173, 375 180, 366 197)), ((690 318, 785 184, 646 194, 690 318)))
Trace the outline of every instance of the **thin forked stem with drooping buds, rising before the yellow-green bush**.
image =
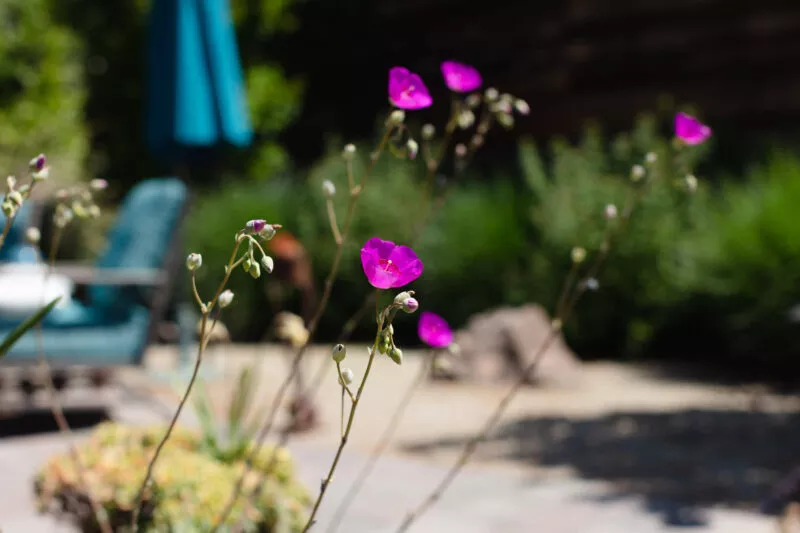
POLYGON ((175 414, 172 416, 172 420, 170 420, 169 426, 167 426, 167 431, 164 433, 164 437, 162 437, 161 441, 156 446, 156 450, 153 453, 153 457, 150 459, 150 462, 147 465, 147 472, 145 473, 144 479, 142 480, 142 484, 139 487, 139 491, 136 494, 136 498, 134 501, 133 506, 133 513, 131 514, 131 529, 134 531, 139 530, 139 516, 142 512, 142 506, 144 505, 144 492, 147 490, 147 486, 150 483, 150 479, 153 477, 153 470, 156 466, 156 461, 158 461, 158 457, 161 454, 161 450, 164 448, 164 445, 169 440, 170 435, 172 434, 172 430, 175 429, 175 426, 178 423, 178 418, 183 411, 184 405, 189 399, 189 396, 192 393, 192 388, 194 387, 195 381, 197 381, 197 375, 200 372, 200 365, 203 362, 203 354, 205 352, 206 345, 208 344, 208 317, 211 313, 211 310, 216 304, 217 300, 219 299, 219 295, 225 289, 225 286, 228 284, 228 280, 231 277, 231 273, 234 269, 241 263, 242 259, 236 260, 236 256, 239 253, 239 247, 241 246, 242 240, 237 238, 236 246, 233 248, 233 252, 231 253, 231 257, 228 260, 228 264, 225 268, 225 277, 222 279, 222 282, 217 287, 217 292, 214 294, 214 297, 211 299, 210 304, 206 305, 202 302, 199 293, 197 292, 197 286, 195 284, 195 277, 194 272, 192 273, 192 290, 194 292, 195 298, 198 301, 198 305, 202 311, 202 316, 200 319, 200 338, 199 343, 197 346, 197 359, 194 363, 194 368, 192 369, 192 375, 189 378, 189 383, 186 386, 186 392, 184 392, 183 396, 181 397, 180 402, 178 403, 178 408, 175 410, 175 414))

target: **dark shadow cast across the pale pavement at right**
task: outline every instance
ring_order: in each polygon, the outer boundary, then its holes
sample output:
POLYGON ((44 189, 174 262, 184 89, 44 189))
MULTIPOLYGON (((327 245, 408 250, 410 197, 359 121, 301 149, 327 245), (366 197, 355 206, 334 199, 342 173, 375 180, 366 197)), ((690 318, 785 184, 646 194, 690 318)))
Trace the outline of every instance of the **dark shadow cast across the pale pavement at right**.
MULTIPOLYGON (((460 447, 466 438, 406 446, 412 452, 460 447)), ((704 508, 755 510, 800 463, 799 413, 692 409, 619 412, 597 418, 523 418, 484 443, 483 459, 569 467, 641 496, 673 526, 704 523, 704 508)))

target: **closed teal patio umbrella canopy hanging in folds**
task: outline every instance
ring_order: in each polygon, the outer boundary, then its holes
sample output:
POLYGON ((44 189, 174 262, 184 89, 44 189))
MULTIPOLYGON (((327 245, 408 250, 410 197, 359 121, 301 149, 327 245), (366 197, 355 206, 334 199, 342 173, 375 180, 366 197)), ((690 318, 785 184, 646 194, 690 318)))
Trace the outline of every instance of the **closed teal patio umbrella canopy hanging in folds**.
POLYGON ((148 46, 147 143, 156 156, 188 163, 250 144, 228 0, 155 0, 148 46))

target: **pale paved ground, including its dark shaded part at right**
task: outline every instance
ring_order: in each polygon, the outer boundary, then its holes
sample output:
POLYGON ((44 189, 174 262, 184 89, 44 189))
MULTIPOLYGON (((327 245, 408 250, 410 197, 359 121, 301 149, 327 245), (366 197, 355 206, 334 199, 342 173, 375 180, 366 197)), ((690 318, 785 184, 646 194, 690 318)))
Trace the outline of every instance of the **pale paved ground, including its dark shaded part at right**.
MULTIPOLYGON (((323 361, 326 351, 317 352, 312 365, 323 361)), ((230 372, 252 360, 253 353, 255 348, 228 349, 216 362, 212 353, 209 369, 230 372)), ((285 364, 274 350, 259 357, 264 357, 261 377, 268 395, 285 364)), ((152 378, 164 361, 163 354, 153 353, 151 374, 122 376, 125 386, 109 400, 113 418, 138 423, 168 414, 159 402, 173 399, 152 378)), ((348 356, 347 362, 357 375, 363 368, 362 358, 348 356)), ((319 531, 419 364, 411 355, 400 368, 388 361, 376 365, 352 442, 321 509, 319 531)), ((774 531, 770 519, 730 506, 752 508, 797 449, 794 403, 769 397, 768 412, 753 413, 745 409, 745 398, 721 386, 656 381, 615 365, 591 365, 585 374, 577 389, 524 391, 478 462, 413 531, 650 533, 687 526, 709 533, 774 531)), ((322 428, 291 444, 300 475, 312 488, 336 444, 339 396, 333 375, 329 378, 320 392, 322 428)), ((226 388, 211 384, 218 396, 226 388)), ((499 387, 427 384, 409 408, 397 446, 379 462, 339 531, 392 533, 501 394, 499 387)), ((4 424, 8 429, 8 421, 0 419, 0 430, 4 424)), ((37 465, 64 447, 57 433, 0 439, 3 533, 73 531, 37 515, 31 495, 37 465)))

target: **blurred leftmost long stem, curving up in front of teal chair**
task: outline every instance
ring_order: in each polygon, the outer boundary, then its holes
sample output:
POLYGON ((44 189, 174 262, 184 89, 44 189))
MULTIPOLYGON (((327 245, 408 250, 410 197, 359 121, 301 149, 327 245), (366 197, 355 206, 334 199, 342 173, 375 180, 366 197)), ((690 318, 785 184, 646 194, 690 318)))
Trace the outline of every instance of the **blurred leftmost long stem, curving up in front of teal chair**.
MULTIPOLYGON (((13 219, 9 219, 13 223, 13 219)), ((6 228, 9 228, 10 224, 9 221, 6 221, 6 228)), ((7 234, 7 229, 4 229, 3 232, 3 239, 7 234)), ((62 228, 56 228, 55 232, 53 233, 53 240, 50 244, 50 252, 47 257, 47 269, 44 275, 43 287, 42 287, 42 296, 44 296, 44 291, 47 289, 47 282, 50 280, 50 275, 53 272, 53 267, 55 265, 55 258, 58 252, 58 248, 61 244, 61 236, 63 234, 62 228)), ((58 426, 59 432, 66 435, 67 439, 70 442, 69 445, 69 454, 72 457, 72 462, 75 464, 75 472, 78 476, 78 483, 81 484, 83 487, 84 493, 86 494, 86 499, 89 501, 89 506, 92 508, 92 513, 94 514, 95 521, 97 522, 98 527, 103 533, 111 533, 111 524, 108 519, 108 514, 106 513, 105 509, 97 502, 97 499, 92 494, 92 490, 89 487, 89 484, 86 479, 86 467, 81 460, 80 454, 78 453, 78 449, 75 444, 72 442, 73 434, 72 428, 69 426, 69 422, 67 421, 67 417, 64 414, 64 409, 61 406, 61 402, 58 400, 58 393, 56 392, 56 386, 53 382, 53 374, 52 369, 50 368, 50 364, 47 362, 47 355, 45 354, 44 349, 44 331, 42 329, 42 323, 39 322, 36 325, 36 344, 37 349, 39 352, 39 359, 38 364, 39 368, 44 375, 44 385, 47 389, 47 395, 49 397, 49 404, 50 404, 50 412, 53 413, 53 419, 56 421, 56 425, 58 426)))

